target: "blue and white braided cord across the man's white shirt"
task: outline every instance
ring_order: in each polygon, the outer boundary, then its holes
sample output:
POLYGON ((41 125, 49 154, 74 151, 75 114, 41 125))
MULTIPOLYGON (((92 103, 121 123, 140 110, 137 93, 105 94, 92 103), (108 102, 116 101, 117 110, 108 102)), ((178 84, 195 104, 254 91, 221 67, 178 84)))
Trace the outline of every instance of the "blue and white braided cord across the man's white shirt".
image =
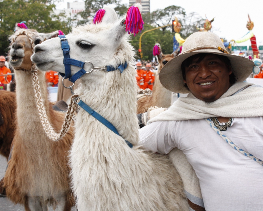
POLYGON ((237 147, 229 138, 227 138, 214 124, 213 121, 211 121, 210 119, 206 118, 205 119, 206 122, 211 126, 211 128, 218 134, 221 136, 222 139, 224 139, 226 141, 226 143, 228 143, 231 147, 233 147, 235 150, 237 150, 238 152, 240 152, 241 154, 251 158, 252 160, 255 160, 257 163, 259 163, 260 165, 263 165, 263 161, 256 158, 255 156, 247 153, 246 151, 244 151, 243 149, 240 149, 239 147, 237 147))

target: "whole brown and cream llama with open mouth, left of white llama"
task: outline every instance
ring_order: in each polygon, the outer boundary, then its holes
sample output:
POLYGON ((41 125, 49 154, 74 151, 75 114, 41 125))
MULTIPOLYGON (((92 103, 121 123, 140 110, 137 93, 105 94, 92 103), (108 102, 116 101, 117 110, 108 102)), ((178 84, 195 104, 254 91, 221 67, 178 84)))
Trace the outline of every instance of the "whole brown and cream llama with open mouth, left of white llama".
MULTIPOLYGON (((33 88, 35 64, 30 60, 36 44, 58 35, 58 31, 40 34, 21 29, 10 38, 9 63, 16 77, 17 129, 12 157, 3 180, 6 195, 14 203, 24 204, 26 211, 70 210, 73 196, 69 184, 68 151, 74 136, 73 128, 59 141, 47 137, 39 118, 33 88)), ((37 71, 41 95, 52 127, 58 132, 64 114, 52 109, 48 101, 45 73, 37 71)))

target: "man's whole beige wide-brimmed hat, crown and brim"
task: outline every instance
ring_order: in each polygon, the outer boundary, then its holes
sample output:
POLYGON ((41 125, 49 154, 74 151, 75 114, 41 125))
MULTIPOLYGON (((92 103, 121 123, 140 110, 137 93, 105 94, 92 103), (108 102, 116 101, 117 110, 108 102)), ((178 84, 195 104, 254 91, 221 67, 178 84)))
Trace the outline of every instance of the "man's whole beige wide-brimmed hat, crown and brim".
POLYGON ((184 86, 181 65, 185 59, 198 53, 213 53, 229 58, 236 82, 244 81, 255 66, 250 59, 228 54, 221 39, 212 32, 195 32, 185 41, 182 53, 171 59, 161 69, 159 79, 168 90, 176 93, 189 93, 184 86))

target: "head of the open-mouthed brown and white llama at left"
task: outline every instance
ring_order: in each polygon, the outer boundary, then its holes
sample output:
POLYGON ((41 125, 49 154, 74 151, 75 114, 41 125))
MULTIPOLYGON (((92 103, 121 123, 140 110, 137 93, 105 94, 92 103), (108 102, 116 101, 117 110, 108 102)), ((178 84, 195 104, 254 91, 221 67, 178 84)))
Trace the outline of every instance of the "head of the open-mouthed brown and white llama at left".
POLYGON ((58 31, 52 33, 38 33, 33 29, 18 29, 9 37, 9 63, 16 70, 31 70, 30 57, 34 47, 43 41, 58 36, 58 31))

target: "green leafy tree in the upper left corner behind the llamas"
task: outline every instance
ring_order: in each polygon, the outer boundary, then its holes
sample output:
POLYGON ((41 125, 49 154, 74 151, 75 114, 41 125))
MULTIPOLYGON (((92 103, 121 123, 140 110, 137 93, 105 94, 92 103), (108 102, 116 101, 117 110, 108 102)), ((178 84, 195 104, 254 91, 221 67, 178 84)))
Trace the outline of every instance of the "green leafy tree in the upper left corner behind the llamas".
POLYGON ((62 30, 69 32, 69 23, 60 21, 64 14, 53 13, 57 1, 50 0, 3 0, 0 1, 0 55, 7 52, 8 37, 14 32, 16 23, 26 21, 30 29, 38 32, 62 30))

